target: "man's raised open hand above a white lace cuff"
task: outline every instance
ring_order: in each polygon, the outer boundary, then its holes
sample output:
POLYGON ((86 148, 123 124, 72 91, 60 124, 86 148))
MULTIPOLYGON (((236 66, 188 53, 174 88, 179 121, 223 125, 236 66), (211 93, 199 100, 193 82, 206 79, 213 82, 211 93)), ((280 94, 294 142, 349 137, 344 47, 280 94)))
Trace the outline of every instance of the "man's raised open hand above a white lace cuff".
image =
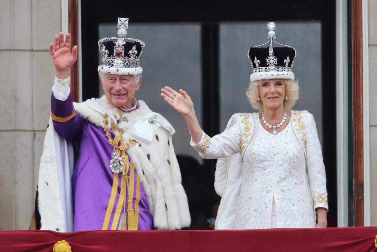
POLYGON ((55 66, 56 77, 66 79, 69 77, 70 68, 77 60, 77 46, 70 52, 70 34, 66 34, 64 43, 63 32, 59 36, 55 35, 54 44, 50 44, 50 54, 55 66))

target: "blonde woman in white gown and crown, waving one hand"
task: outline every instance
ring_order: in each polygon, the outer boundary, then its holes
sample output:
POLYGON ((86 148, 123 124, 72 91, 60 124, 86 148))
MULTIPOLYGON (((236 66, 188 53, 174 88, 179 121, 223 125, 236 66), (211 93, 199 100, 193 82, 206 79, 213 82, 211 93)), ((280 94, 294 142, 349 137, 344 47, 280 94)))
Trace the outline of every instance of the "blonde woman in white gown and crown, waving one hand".
POLYGON ((234 114, 221 134, 210 138, 202 131, 185 91, 161 89, 164 100, 184 115, 191 145, 201 157, 238 155, 241 170, 235 177, 240 177, 239 186, 227 181, 237 169, 230 159, 224 171, 216 167, 216 175, 223 174, 220 183, 225 184, 220 189, 223 206, 218 213, 218 218, 225 213, 223 228, 327 226, 326 176, 316 124, 309 112, 290 110, 299 94, 291 71, 296 51, 281 44, 273 46, 274 28, 274 23, 268 23, 268 47, 252 47, 248 52, 253 73, 247 96, 260 112, 234 114))

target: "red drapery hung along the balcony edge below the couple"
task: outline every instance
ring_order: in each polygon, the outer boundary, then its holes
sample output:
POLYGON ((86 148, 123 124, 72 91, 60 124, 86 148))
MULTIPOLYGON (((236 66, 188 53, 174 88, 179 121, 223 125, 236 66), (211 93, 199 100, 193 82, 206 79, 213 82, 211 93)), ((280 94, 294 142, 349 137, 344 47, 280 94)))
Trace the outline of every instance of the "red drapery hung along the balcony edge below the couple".
POLYGON ((268 251, 377 252, 377 227, 264 230, 0 231, 6 252, 52 252, 66 240, 72 252, 107 251, 268 251))

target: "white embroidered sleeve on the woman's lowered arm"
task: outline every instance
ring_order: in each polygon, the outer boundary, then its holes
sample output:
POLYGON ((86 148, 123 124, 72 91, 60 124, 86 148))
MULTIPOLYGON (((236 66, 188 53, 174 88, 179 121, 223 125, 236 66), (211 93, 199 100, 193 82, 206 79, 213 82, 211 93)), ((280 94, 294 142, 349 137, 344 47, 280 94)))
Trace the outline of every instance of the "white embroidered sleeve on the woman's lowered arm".
POLYGON ((308 113, 305 124, 306 165, 313 207, 314 209, 317 207, 328 209, 325 165, 323 164, 322 150, 312 114, 308 113))

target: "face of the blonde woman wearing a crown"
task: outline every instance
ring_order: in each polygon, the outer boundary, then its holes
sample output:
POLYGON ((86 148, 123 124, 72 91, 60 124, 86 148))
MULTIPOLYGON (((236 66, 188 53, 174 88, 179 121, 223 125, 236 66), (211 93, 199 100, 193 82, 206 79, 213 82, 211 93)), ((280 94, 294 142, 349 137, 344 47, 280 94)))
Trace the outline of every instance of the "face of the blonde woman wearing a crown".
POLYGON ((262 80, 259 84, 259 97, 263 107, 277 109, 283 106, 285 97, 285 83, 280 79, 262 80))

